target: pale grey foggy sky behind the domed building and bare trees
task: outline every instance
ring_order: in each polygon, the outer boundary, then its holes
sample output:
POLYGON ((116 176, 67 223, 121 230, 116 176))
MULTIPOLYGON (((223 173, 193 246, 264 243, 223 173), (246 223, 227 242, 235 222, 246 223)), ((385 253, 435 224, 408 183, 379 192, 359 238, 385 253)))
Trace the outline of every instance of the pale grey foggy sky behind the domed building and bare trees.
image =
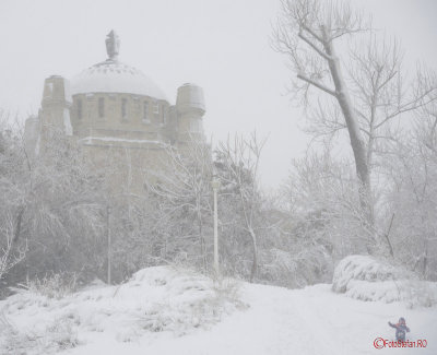
MULTIPOLYGON (((437 69, 437 1, 354 0, 375 24, 397 35, 409 64, 437 69)), ((105 36, 116 29, 119 59, 152 78, 175 103, 177 87, 203 87, 205 133, 269 135, 261 176, 275 188, 308 138, 302 113, 286 95, 292 73, 270 46, 276 0, 1 0, 0 107, 36 114, 44 79, 66 78, 106 59, 105 36)))

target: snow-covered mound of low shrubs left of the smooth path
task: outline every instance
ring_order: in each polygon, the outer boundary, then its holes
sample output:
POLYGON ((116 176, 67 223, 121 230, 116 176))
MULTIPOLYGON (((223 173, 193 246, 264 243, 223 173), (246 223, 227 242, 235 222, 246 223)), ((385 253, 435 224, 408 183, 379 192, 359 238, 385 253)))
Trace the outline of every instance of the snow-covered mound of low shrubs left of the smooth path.
POLYGON ((116 286, 94 282, 62 298, 17 289, 0 304, 0 354, 50 354, 76 346, 76 334, 84 333, 119 342, 151 332, 178 336, 208 329, 244 307, 239 282, 170 267, 140 270, 116 286))

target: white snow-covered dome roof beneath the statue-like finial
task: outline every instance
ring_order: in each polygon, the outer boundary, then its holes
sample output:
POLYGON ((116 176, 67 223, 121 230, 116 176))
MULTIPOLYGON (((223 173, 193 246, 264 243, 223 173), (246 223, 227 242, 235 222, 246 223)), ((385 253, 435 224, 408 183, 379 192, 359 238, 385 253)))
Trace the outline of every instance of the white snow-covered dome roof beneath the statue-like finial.
POLYGON ((107 59, 71 80, 71 94, 126 93, 168 102, 162 90, 140 70, 118 60, 107 59))

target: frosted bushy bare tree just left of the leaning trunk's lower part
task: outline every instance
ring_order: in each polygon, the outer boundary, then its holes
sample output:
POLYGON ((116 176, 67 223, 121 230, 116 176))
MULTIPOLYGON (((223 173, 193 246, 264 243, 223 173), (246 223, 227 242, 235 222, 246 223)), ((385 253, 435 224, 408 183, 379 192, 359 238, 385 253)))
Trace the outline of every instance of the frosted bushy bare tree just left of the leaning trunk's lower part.
POLYGON ((296 159, 293 167, 284 196, 291 218, 305 226, 298 234, 330 245, 334 261, 365 252, 375 229, 363 221, 353 164, 334 159, 326 149, 296 159))

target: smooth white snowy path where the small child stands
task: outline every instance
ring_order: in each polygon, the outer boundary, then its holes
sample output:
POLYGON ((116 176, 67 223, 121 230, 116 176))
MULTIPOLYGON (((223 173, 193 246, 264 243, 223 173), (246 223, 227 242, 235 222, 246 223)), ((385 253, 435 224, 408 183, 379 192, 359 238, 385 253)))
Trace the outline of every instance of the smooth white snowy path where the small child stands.
POLYGON ((131 343, 102 334, 63 354, 437 354, 435 307, 411 310, 400 304, 359 301, 333 294, 330 285, 290 291, 246 284, 244 300, 250 304, 249 309, 225 317, 210 330, 185 336, 147 333, 131 343), (387 322, 400 316, 412 329, 410 339, 426 339, 426 348, 374 347, 378 336, 393 339, 387 322))

